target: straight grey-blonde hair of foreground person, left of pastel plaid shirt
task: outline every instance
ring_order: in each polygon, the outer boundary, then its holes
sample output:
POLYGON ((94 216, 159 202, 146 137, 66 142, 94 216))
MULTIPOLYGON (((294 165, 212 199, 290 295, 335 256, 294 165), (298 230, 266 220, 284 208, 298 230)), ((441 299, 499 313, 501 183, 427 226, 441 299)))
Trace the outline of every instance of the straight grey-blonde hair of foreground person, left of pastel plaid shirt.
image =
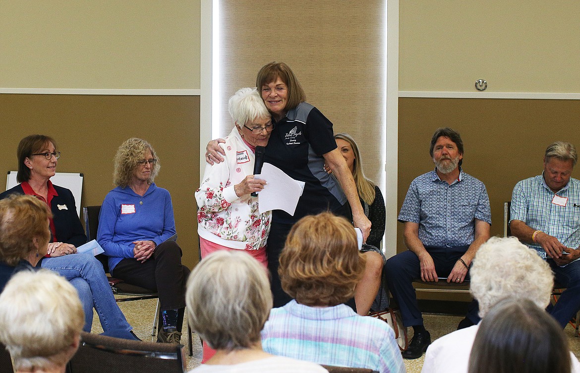
POLYGON ((211 348, 250 348, 272 308, 266 269, 244 251, 216 251, 191 271, 186 303, 191 328, 211 348))

